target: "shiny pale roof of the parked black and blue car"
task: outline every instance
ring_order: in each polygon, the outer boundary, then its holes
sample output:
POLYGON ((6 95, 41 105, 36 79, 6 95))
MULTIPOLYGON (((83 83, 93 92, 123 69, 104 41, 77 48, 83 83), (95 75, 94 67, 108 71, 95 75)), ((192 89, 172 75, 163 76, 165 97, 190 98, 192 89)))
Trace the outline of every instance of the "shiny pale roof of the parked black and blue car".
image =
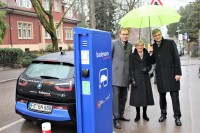
POLYGON ((74 51, 46 54, 33 60, 33 62, 37 62, 37 61, 63 62, 63 63, 70 63, 74 65, 74 51))

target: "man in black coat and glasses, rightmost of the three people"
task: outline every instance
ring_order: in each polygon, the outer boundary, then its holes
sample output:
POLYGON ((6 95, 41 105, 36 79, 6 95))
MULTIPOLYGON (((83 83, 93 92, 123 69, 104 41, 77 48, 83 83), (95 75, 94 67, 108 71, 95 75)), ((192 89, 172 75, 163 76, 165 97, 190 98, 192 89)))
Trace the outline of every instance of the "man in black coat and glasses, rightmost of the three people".
POLYGON ((160 95, 161 117, 163 122, 167 117, 166 93, 170 92, 175 123, 181 126, 181 111, 179 102, 181 65, 177 46, 173 40, 164 39, 159 29, 152 31, 154 38, 152 63, 156 63, 156 81, 160 95))

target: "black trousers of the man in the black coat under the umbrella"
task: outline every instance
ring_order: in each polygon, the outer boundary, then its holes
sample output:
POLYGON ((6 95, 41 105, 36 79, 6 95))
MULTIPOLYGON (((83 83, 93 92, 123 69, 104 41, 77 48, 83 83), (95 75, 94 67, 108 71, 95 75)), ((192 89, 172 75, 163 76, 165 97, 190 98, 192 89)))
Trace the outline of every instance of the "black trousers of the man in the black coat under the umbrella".
MULTIPOLYGON (((160 95, 160 109, 162 115, 167 115, 167 100, 166 93, 159 93, 160 95)), ((179 102, 179 91, 170 92, 174 118, 181 118, 180 102, 179 102)))

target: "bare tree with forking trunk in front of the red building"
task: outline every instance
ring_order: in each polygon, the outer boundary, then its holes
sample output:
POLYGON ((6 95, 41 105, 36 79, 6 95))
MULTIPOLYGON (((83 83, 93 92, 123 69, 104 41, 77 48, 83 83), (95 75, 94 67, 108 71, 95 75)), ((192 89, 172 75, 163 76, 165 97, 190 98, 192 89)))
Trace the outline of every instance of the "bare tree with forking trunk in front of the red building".
POLYGON ((59 23, 57 25, 54 25, 54 22, 53 22, 54 18, 53 18, 53 14, 52 14, 52 8, 53 8, 52 0, 49 1, 50 3, 49 3, 49 10, 48 11, 44 9, 40 0, 31 0, 33 8, 35 9, 35 12, 38 16, 38 19, 40 20, 44 29, 51 36, 51 41, 52 41, 52 44, 53 44, 53 50, 54 51, 58 51, 58 38, 57 38, 57 35, 56 35, 56 29, 63 22, 63 19, 64 19, 66 13, 72 7, 72 5, 75 3, 75 1, 76 0, 74 0, 72 2, 72 4, 70 4, 68 9, 64 12, 59 23))

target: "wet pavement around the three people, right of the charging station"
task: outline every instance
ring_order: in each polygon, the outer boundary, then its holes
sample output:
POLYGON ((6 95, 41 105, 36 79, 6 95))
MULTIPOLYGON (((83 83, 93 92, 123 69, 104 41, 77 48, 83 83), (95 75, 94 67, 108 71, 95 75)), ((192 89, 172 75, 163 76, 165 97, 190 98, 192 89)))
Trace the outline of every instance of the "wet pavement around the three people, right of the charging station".
POLYGON ((200 133, 200 117, 198 115, 200 112, 200 78, 198 78, 199 66, 200 61, 197 58, 190 58, 187 55, 181 57, 182 77, 181 90, 179 93, 182 112, 181 121, 183 124, 181 127, 177 127, 175 125, 171 97, 169 93, 167 93, 167 119, 162 123, 158 122, 160 117, 159 95, 157 92, 157 86, 153 83, 152 79, 155 105, 147 108, 147 114, 150 121, 144 121, 141 115, 140 121, 137 123, 134 122, 136 109, 135 107, 129 106, 128 98, 125 116, 130 118, 131 121, 120 121, 122 129, 114 129, 115 133, 200 133))

